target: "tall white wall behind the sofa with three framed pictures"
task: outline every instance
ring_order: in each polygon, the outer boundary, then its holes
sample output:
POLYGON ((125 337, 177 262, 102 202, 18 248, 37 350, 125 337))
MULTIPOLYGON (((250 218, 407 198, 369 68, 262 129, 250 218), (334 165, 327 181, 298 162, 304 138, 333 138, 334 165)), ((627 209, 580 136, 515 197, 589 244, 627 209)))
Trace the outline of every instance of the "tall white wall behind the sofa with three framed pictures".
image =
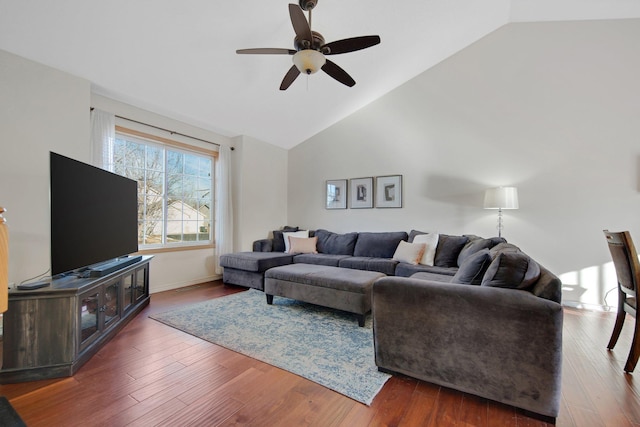
MULTIPOLYGON (((292 225, 504 236, 564 300, 615 286, 602 229, 640 242, 640 20, 509 24, 290 150, 292 225), (325 210, 324 181, 402 174, 404 208, 325 210)), ((615 304, 615 295, 607 300, 615 304)))

